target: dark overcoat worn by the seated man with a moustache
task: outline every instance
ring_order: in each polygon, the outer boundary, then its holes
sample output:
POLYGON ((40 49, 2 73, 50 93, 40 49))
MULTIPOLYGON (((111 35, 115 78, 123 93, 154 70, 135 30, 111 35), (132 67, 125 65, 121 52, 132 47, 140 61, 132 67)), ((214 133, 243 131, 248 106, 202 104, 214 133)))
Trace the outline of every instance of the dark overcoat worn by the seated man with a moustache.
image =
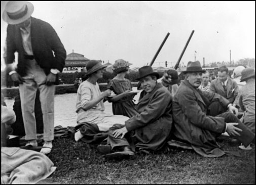
MULTIPOLYGON (((213 92, 202 91, 209 102, 218 100, 227 107, 229 101, 213 92)), ((173 134, 181 141, 190 143, 193 149, 203 156, 224 155, 219 150, 215 137, 225 132, 223 117, 207 116, 207 106, 198 90, 187 80, 179 85, 173 97, 173 134)))

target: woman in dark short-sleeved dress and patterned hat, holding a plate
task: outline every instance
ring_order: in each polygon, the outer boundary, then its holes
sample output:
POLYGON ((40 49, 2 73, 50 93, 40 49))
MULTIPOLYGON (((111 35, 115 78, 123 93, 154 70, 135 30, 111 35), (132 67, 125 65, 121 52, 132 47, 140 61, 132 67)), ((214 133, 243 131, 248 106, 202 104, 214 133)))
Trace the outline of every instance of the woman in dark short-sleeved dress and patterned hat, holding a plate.
POLYGON ((123 59, 119 59, 115 61, 113 66, 113 71, 117 73, 117 76, 109 81, 107 88, 113 90, 116 94, 116 96, 108 98, 108 102, 112 102, 114 115, 132 117, 137 114, 133 102, 137 91, 132 91, 131 81, 125 78, 125 75, 130 73, 130 65, 132 64, 123 59))

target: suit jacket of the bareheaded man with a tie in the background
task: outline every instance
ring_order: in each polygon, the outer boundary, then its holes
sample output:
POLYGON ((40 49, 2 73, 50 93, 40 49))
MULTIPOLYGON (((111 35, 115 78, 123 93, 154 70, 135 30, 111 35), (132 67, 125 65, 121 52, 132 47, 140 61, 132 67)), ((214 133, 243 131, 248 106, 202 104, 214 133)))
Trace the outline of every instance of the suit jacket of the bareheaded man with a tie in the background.
POLYGON ((225 94, 224 87, 219 78, 216 78, 211 81, 210 90, 228 99, 230 103, 233 103, 236 99, 236 96, 238 95, 239 87, 234 80, 228 77, 226 88, 227 88, 227 94, 225 94))

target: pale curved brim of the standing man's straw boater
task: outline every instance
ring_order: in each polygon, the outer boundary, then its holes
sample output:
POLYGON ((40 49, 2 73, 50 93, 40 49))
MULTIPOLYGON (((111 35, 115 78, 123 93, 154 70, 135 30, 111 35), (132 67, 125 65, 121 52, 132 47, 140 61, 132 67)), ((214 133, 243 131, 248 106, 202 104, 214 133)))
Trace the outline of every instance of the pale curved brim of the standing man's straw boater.
POLYGON ((31 4, 30 2, 26 2, 26 5, 27 5, 27 14, 25 16, 21 17, 20 19, 16 19, 16 20, 10 19, 7 12, 4 10, 3 16, 2 16, 3 20, 5 22, 7 22, 8 24, 20 24, 20 23, 24 22, 32 15, 32 13, 34 11, 33 4, 31 4))

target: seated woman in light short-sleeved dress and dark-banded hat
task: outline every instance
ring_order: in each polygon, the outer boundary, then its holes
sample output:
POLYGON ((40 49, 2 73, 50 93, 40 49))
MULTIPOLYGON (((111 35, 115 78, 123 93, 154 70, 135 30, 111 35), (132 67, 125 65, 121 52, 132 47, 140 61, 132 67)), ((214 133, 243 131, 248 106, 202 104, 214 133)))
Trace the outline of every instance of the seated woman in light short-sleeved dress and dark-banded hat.
POLYGON ((105 110, 103 101, 111 96, 110 89, 101 92, 97 83, 97 80, 103 77, 104 68, 106 66, 97 60, 90 60, 86 65, 88 79, 80 84, 77 92, 77 123, 83 123, 83 125, 75 133, 76 141, 84 137, 84 141, 88 142, 91 140, 92 133, 108 131, 116 123, 124 125, 129 119, 123 115, 110 115, 103 112, 105 110), (86 137, 87 133, 90 134, 90 138, 86 137))

